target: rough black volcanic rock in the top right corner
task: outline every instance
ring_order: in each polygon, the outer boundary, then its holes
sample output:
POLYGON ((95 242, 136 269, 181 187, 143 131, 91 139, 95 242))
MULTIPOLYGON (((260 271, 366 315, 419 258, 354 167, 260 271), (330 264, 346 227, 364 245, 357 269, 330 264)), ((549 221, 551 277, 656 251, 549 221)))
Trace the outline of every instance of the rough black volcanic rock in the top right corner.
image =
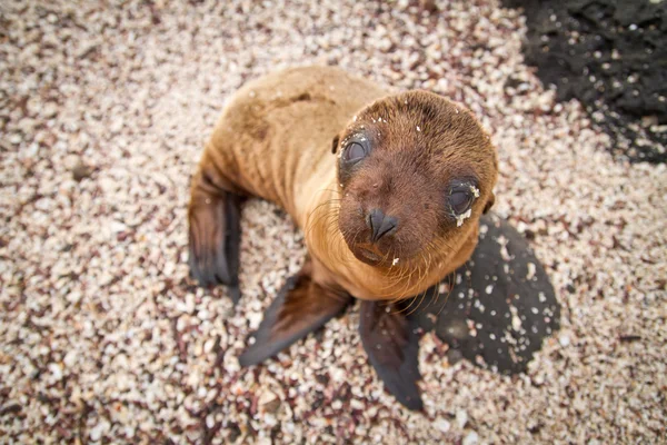
POLYGON ((524 8, 526 61, 559 100, 578 99, 615 155, 667 160, 667 1, 505 0, 524 8), (601 111, 603 116, 595 113, 601 111))

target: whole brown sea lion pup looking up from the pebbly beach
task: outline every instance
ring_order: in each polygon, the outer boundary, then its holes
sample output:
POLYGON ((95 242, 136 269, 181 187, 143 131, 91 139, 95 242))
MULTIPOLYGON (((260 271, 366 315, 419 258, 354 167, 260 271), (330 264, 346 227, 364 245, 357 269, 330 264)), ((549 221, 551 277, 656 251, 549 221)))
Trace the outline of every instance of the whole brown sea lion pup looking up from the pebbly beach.
POLYGON ((276 355, 355 297, 371 364, 420 409, 417 337, 401 301, 470 257, 496 177, 489 137, 462 106, 336 68, 271 73, 239 89, 206 145, 188 209, 191 275, 238 300, 240 206, 279 205, 303 230, 308 258, 241 365, 276 355))

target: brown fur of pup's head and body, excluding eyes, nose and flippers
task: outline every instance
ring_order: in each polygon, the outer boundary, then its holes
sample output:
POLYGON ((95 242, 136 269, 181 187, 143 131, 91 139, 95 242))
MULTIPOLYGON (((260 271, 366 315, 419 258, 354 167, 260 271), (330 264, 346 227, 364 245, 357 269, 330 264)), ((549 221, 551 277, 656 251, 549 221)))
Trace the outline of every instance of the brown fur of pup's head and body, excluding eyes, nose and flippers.
POLYGON ((249 82, 226 107, 206 146, 192 181, 191 224, 211 187, 261 197, 283 207, 303 229, 312 280, 321 286, 362 299, 426 290, 471 255, 477 220, 494 201, 496 155, 462 106, 426 91, 388 96, 375 83, 326 67, 249 82), (341 188, 331 140, 340 152, 360 126, 374 135, 377 148, 341 188), (480 191, 471 217, 461 227, 444 225, 448 181, 471 176, 480 191), (387 251, 378 266, 349 248, 362 236, 359 221, 350 220, 370 205, 402 221, 398 250, 387 251), (357 234, 341 233, 354 227, 357 234))

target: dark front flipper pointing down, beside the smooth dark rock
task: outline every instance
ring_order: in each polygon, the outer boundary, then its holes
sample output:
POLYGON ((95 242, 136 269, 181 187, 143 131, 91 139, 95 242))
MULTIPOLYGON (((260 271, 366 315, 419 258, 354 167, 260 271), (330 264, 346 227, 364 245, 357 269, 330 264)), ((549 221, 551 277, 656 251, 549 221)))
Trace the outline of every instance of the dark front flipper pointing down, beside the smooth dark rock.
POLYGON ((424 404, 417 380, 419 338, 415 326, 394 304, 361 301, 359 332, 370 364, 389 393, 409 409, 421 411, 424 404))

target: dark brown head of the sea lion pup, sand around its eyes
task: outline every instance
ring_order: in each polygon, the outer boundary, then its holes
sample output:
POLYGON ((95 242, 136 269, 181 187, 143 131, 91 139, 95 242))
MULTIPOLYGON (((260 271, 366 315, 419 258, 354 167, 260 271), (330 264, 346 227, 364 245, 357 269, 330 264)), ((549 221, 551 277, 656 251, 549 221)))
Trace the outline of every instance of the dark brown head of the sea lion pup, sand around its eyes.
POLYGON ((489 137, 470 111, 431 92, 371 103, 335 138, 334 151, 338 227, 355 257, 370 266, 452 259, 494 204, 497 160, 489 137))

